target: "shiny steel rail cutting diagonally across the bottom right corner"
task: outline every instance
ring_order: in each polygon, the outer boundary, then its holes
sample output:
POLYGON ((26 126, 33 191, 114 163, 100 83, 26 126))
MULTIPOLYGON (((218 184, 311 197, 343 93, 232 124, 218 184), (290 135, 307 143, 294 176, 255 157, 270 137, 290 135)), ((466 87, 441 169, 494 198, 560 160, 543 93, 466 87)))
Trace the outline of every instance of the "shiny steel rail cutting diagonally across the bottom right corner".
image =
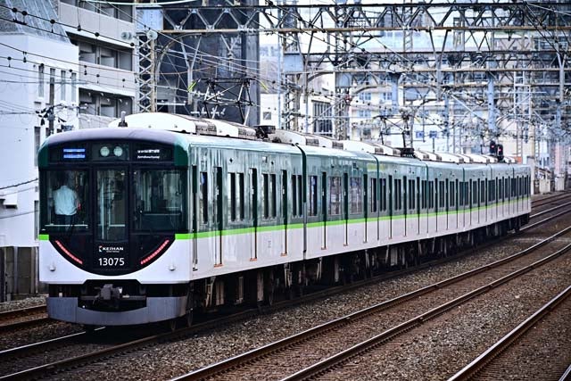
POLYGON ((509 332, 508 335, 503 336, 496 344, 493 344, 485 352, 480 354, 475 360, 470 362, 466 367, 459 370, 459 372, 454 376, 450 377, 449 381, 467 380, 471 377, 476 376, 478 371, 484 369, 484 367, 489 364, 491 360, 501 354, 501 352, 504 352, 506 349, 508 349, 510 345, 516 343, 517 339, 521 335, 524 335, 525 332, 534 327, 537 322, 543 319, 551 311, 555 310, 559 303, 565 301, 569 295, 571 295, 571 286, 567 286, 565 290, 551 299, 550 302, 544 304, 541 309, 536 311, 529 318, 525 319, 525 321, 520 323, 511 332, 509 332))

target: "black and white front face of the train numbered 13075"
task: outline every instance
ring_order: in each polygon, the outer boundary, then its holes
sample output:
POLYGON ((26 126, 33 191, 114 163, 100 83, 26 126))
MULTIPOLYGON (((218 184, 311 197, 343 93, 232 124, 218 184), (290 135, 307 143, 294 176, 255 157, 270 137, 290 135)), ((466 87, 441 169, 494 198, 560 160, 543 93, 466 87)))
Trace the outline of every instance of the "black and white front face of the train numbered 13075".
POLYGON ((133 128, 46 140, 39 276, 51 318, 117 326, 188 312, 186 147, 178 134, 133 128))

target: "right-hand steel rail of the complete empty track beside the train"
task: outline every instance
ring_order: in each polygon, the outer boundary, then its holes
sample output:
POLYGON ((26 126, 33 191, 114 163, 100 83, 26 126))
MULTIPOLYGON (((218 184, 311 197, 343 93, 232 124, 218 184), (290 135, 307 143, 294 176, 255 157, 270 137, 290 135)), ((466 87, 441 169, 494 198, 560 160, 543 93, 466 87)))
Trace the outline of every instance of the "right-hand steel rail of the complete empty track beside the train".
POLYGON ((383 332, 382 334, 376 335, 376 336, 368 339, 365 342, 353 345, 351 348, 349 348, 343 352, 339 352, 339 353, 335 354, 334 356, 331 356, 325 360, 321 360, 318 363, 316 363, 316 364, 314 364, 314 365, 312 365, 306 369, 302 369, 302 370, 294 373, 294 375, 283 378, 282 381, 302 380, 302 379, 308 379, 310 377, 315 377, 318 375, 323 375, 324 373, 327 373, 327 370, 333 369, 334 367, 339 366, 341 363, 345 362, 346 360, 350 360, 355 356, 359 356, 362 353, 368 352, 371 349, 377 347, 378 345, 384 344, 386 341, 393 339, 393 337, 396 337, 396 336, 401 335, 407 331, 410 331, 411 329, 413 329, 415 327, 419 327, 422 324, 424 324, 426 321, 428 321, 430 319, 434 319, 435 317, 443 314, 444 312, 450 311, 452 308, 457 307, 457 306, 459 306, 465 302, 468 302, 469 300, 475 298, 476 296, 479 296, 481 294, 485 294, 485 293, 491 291, 492 289, 494 289, 498 286, 502 286, 502 285, 508 283, 509 280, 511 280, 515 277, 519 277, 519 276, 531 271, 532 269, 536 269, 536 268, 542 266, 543 264, 547 263, 548 261, 554 260, 555 258, 559 257, 559 255, 562 255, 563 253, 567 253, 570 249, 571 249, 571 244, 567 244, 565 247, 559 249, 555 253, 550 254, 549 256, 543 258, 542 260, 535 261, 534 263, 532 263, 528 266, 525 266, 522 269, 518 269, 518 270, 506 275, 505 277, 501 277, 499 279, 496 279, 488 285, 478 287, 478 288, 476 288, 476 290, 473 290, 467 294, 461 295, 458 298, 452 300, 451 302, 446 302, 446 303, 442 304, 441 306, 434 308, 431 311, 427 311, 421 315, 418 315, 418 317, 410 319, 410 320, 400 324, 397 327, 393 327, 391 329, 388 329, 385 332, 383 332))

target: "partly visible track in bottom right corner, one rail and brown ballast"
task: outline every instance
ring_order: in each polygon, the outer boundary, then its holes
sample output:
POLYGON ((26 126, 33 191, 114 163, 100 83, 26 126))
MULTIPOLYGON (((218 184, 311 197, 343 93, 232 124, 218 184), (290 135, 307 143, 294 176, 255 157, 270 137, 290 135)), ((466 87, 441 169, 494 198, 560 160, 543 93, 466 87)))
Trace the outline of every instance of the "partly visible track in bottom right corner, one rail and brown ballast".
POLYGON ((562 332, 561 327, 568 323, 571 313, 571 286, 568 286, 550 302, 545 303, 508 335, 503 336, 496 344, 461 369, 450 381, 468 379, 496 380, 508 375, 510 379, 534 378, 537 379, 565 379, 568 377, 567 365, 571 361, 568 351, 568 340, 571 334, 562 332), (538 344, 562 341, 561 335, 566 335, 567 344, 563 342, 563 351, 567 356, 550 356, 551 361, 528 361, 522 363, 519 359, 522 354, 533 351, 538 344))

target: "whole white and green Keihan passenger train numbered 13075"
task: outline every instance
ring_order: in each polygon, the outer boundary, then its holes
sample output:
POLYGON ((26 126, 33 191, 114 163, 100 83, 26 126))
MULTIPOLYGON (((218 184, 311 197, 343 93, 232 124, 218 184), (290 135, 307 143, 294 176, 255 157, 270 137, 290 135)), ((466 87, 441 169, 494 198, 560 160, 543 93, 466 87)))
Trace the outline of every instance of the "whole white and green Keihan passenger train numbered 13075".
POLYGON ((39 273, 54 319, 190 321, 411 266, 529 219, 525 165, 270 143, 180 115, 127 120, 40 148, 39 273))

